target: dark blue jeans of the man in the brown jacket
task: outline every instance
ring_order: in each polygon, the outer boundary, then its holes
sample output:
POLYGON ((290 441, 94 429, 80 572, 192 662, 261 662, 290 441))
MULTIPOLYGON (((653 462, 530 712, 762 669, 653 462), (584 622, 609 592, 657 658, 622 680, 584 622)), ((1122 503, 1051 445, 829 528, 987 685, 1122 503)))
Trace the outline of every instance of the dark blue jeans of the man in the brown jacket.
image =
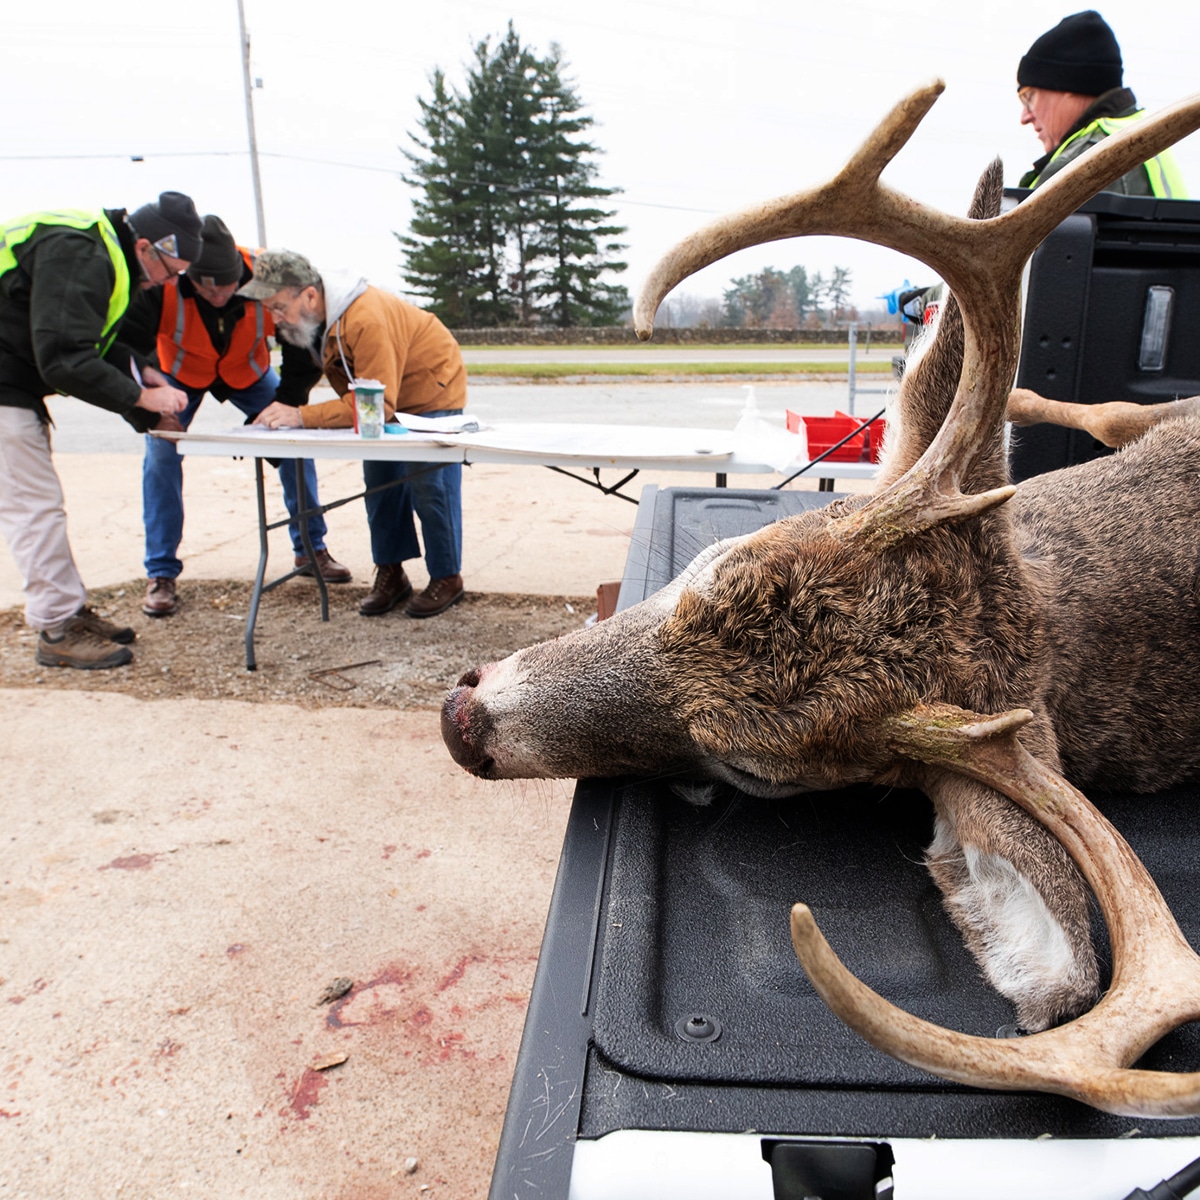
MULTIPOLYGON (((421 413, 421 416, 457 415, 457 409, 421 413)), ((400 415, 403 420, 403 414, 400 415)), ((426 462, 362 463, 362 481, 378 487, 392 480, 407 482, 366 498, 371 529, 371 557, 376 564, 403 563, 420 557, 413 510, 421 518, 425 569, 431 580, 444 580, 462 570, 462 463, 443 467, 426 462)))

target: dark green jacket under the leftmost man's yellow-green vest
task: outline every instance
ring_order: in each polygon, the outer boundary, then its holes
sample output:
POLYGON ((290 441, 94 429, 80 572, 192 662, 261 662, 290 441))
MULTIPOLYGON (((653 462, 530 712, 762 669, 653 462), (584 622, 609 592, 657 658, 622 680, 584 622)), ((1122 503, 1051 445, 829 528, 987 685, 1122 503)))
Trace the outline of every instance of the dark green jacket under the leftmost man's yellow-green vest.
MULTIPOLYGON (((133 251, 133 235, 124 209, 106 209, 112 232, 128 271, 128 289, 136 288, 142 269, 133 251)), ((86 229, 40 223, 11 251, 0 252, 0 404, 30 408, 49 421, 44 398, 59 391, 120 413, 138 428, 133 407, 142 394, 130 372, 148 360, 133 355, 119 336, 124 308, 118 271, 97 226, 86 229), (107 343, 107 350, 106 350, 107 343)))

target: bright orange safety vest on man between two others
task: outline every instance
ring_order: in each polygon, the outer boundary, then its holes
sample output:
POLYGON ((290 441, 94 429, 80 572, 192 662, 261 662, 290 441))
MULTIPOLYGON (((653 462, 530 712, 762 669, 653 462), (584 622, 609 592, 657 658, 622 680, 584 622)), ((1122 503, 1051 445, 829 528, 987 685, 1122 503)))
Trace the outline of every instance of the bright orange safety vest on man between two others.
MULTIPOLYGON (((246 265, 252 266, 250 251, 241 246, 238 250, 246 265)), ((271 365, 266 336, 274 332, 271 314, 259 301, 247 300, 241 318, 234 325, 229 348, 218 356, 196 301, 187 298, 180 304, 179 277, 163 284, 158 366, 185 388, 208 388, 217 379, 230 388, 252 388, 271 365)))

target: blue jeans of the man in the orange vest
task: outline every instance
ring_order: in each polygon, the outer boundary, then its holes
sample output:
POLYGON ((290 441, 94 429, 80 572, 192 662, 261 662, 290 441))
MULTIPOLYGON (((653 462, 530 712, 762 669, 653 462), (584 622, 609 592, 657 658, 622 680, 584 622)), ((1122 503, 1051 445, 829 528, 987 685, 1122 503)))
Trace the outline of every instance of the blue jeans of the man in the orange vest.
MULTIPOLYGON (((187 408, 179 415, 179 424, 186 430, 192 424, 205 389, 184 388, 167 377, 175 388, 187 392, 187 408)), ((252 388, 235 391, 229 396, 230 403, 246 416, 256 416, 275 398, 280 377, 275 368, 252 388)), ((184 569, 179 559, 179 542, 184 536, 184 461, 173 442, 162 438, 145 439, 145 457, 142 460, 142 523, 146 533, 146 575, 151 580, 173 580, 184 569)), ((304 484, 308 506, 317 499, 317 468, 311 458, 284 458, 280 463, 280 484, 283 487, 283 503, 292 516, 296 512, 296 463, 304 469, 304 484)), ((288 526, 292 534, 292 547, 296 554, 304 553, 300 539, 300 527, 293 521, 288 526)), ((308 517, 308 538, 313 550, 325 547, 325 518, 319 514, 308 517)))

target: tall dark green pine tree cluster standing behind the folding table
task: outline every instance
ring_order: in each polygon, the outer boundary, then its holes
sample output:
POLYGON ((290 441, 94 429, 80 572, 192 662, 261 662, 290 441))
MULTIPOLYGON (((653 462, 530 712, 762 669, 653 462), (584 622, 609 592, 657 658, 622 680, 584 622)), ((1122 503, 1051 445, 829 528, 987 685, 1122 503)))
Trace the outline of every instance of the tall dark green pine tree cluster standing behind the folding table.
POLYGON ((578 140, 593 121, 562 71, 557 46, 539 59, 510 22, 475 47, 464 94, 431 76, 412 134, 422 154, 406 151, 422 196, 397 238, 404 278, 451 326, 602 324, 629 302, 601 278, 625 269, 610 240, 624 228, 596 204, 616 190, 594 182, 598 150, 578 140))

